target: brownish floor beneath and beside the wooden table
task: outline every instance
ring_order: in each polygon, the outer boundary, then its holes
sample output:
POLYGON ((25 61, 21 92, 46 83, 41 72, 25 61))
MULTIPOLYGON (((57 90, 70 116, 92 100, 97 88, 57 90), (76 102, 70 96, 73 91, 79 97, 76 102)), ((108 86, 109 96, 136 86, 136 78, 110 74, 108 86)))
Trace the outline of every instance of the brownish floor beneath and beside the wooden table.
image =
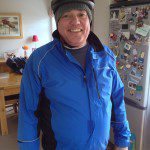
MULTIPOLYGON (((17 122, 17 116, 8 118, 9 135, 0 135, 0 150, 19 150, 17 145, 17 122)), ((113 145, 109 144, 107 150, 113 150, 113 145)))

